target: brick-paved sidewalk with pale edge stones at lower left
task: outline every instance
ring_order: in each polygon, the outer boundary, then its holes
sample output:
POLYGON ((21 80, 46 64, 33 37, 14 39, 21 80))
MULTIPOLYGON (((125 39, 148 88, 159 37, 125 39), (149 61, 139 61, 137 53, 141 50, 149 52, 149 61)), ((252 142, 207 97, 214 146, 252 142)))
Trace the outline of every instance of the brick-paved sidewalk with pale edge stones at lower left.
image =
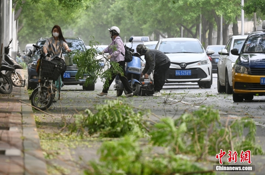
POLYGON ((20 100, 30 104, 26 87, 0 94, 0 175, 47 175, 32 108, 20 100))

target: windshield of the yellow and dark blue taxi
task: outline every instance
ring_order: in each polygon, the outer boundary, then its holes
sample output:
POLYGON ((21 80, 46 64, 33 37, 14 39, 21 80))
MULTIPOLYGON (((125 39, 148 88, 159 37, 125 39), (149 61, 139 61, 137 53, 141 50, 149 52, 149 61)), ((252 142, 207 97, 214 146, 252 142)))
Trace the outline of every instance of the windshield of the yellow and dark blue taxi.
POLYGON ((244 45, 243 53, 265 53, 265 33, 250 36, 244 45))

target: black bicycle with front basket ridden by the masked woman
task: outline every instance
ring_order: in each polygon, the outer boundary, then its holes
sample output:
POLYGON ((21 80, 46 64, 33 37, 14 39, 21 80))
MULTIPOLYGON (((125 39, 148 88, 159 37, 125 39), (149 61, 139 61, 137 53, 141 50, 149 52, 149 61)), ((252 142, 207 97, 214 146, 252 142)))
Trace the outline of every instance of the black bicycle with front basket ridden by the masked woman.
MULTIPOLYGON (((53 52, 49 51, 44 54, 43 49, 39 46, 33 45, 33 47, 39 49, 41 54, 36 69, 39 76, 39 85, 33 90, 30 96, 30 101, 32 106, 40 110, 46 110, 50 108, 53 103, 57 102, 57 100, 60 100, 60 91, 62 87, 60 73, 65 71, 64 69, 66 69, 66 66, 60 62, 62 54, 61 57, 54 57, 52 60, 47 60, 46 57, 51 54, 54 56, 53 52)), ((67 52, 64 51, 64 53, 67 52)))

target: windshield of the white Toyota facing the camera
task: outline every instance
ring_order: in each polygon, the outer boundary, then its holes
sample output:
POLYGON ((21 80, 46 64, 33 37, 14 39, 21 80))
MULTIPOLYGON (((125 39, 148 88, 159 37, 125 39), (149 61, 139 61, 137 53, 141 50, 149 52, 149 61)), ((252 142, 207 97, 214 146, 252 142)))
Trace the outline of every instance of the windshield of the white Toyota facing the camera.
POLYGON ((158 50, 164 53, 204 53, 199 41, 162 41, 158 50))

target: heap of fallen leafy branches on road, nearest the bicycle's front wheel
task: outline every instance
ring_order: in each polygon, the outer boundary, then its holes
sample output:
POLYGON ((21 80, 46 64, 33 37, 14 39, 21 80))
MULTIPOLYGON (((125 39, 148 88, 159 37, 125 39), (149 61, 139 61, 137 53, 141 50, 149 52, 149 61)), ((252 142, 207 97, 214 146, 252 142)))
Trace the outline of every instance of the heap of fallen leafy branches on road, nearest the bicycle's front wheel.
POLYGON ((74 123, 69 124, 70 133, 102 137, 121 137, 127 133, 145 136, 145 123, 142 112, 134 112, 129 104, 121 100, 105 100, 107 104, 95 105, 98 111, 93 114, 89 109, 85 114, 74 115, 74 123))

